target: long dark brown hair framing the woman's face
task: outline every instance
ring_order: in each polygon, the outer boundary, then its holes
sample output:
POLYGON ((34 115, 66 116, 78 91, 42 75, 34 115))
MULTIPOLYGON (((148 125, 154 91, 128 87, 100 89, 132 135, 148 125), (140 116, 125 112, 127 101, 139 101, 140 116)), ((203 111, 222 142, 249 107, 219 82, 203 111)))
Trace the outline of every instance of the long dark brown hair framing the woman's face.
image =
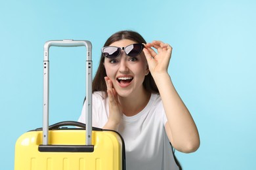
MULTIPOLYGON (((129 39, 137 43, 146 43, 143 37, 135 31, 119 31, 109 37, 104 46, 109 46, 113 42, 121 41, 123 39, 129 39)), ((105 76, 106 69, 104 67, 104 56, 101 54, 98 70, 96 71, 95 78, 93 79, 93 92, 102 91, 106 93, 107 87, 104 80, 105 76)), ((145 76, 143 86, 148 92, 159 93, 158 87, 156 86, 156 82, 154 81, 151 73, 148 73, 148 75, 145 76)))

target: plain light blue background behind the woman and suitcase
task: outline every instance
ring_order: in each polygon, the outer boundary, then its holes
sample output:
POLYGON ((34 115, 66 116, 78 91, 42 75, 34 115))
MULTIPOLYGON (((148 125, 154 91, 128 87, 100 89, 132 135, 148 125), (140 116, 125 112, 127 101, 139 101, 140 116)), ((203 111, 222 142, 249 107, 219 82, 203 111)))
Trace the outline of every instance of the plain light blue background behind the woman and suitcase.
MULTIPOLYGON (((197 152, 176 152, 182 167, 256 169, 255 9, 253 0, 1 1, 1 169, 13 169, 16 139, 42 126, 45 41, 91 41, 95 73, 104 41, 122 29, 173 46, 169 73, 201 137, 197 152)), ((51 48, 50 124, 81 112, 84 50, 51 48)))

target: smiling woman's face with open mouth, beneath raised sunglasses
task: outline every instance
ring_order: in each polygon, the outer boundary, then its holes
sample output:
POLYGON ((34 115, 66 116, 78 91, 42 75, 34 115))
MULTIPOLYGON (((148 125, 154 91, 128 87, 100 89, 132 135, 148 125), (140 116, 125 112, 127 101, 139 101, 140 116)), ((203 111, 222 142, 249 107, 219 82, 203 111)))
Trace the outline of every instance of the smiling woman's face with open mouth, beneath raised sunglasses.
MULTIPOLYGON (((110 44, 110 46, 125 47, 137 42, 124 39, 110 44)), ((141 52, 139 56, 130 57, 121 50, 121 54, 117 58, 104 59, 106 75, 110 80, 116 92, 121 97, 129 97, 129 95, 139 95, 143 90, 142 82, 145 75, 148 75, 148 64, 146 58, 141 52)))

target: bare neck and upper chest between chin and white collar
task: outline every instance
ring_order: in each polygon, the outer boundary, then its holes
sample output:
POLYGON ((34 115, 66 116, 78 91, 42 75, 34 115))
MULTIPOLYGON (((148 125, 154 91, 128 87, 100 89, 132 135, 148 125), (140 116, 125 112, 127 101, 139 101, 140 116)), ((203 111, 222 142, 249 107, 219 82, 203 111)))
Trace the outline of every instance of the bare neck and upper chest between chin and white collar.
POLYGON ((146 107, 150 96, 151 93, 143 89, 140 93, 129 97, 118 97, 123 114, 125 116, 135 116, 146 107))

